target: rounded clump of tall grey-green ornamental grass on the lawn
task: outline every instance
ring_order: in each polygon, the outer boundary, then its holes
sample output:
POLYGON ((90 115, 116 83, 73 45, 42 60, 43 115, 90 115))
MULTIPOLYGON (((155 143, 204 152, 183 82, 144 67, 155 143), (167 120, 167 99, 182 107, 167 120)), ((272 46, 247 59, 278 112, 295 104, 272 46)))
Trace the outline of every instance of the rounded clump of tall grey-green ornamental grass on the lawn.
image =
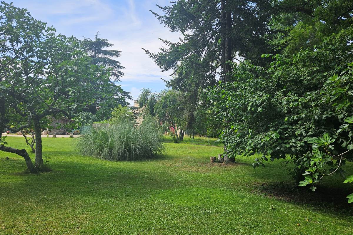
POLYGON ((106 160, 140 160, 164 154, 162 134, 147 118, 140 126, 128 122, 94 125, 78 138, 77 150, 106 160))

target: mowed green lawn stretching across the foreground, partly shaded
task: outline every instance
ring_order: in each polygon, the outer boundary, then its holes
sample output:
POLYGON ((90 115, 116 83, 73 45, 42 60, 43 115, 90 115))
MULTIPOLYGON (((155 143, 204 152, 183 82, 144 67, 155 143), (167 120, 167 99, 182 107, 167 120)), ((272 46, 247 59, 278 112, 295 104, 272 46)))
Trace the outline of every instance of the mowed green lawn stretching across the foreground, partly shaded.
MULTIPOLYGON (((223 166, 209 163, 222 147, 166 143, 164 157, 114 162, 77 155, 74 141, 44 138, 52 171, 41 174, 0 152, 0 234, 353 234, 352 207, 321 203, 320 194, 311 205, 259 192, 291 184, 279 161, 223 166)), ((25 147, 21 137, 8 142, 25 147)), ((321 186, 351 189, 335 177, 321 186)))

